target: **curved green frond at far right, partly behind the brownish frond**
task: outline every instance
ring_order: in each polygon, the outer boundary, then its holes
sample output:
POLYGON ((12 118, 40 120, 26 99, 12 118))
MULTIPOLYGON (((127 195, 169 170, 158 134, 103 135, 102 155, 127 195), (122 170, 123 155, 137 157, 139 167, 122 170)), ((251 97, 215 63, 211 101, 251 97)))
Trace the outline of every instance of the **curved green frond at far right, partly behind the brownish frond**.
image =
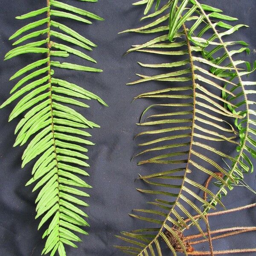
MULTIPOLYGON (((229 103, 224 103, 224 107, 227 108, 231 113, 239 114, 243 116, 242 119, 236 119, 235 125, 239 132, 239 145, 237 147, 238 155, 234 158, 230 166, 227 166, 227 170, 229 174, 233 177, 233 180, 237 182, 240 179, 243 179, 244 172, 253 172, 253 164, 250 160, 251 157, 256 158, 255 154, 255 129, 253 125, 255 125, 255 110, 253 110, 254 101, 250 100, 254 99, 253 96, 256 93, 255 90, 251 90, 252 86, 256 84, 254 81, 247 81, 246 77, 250 75, 250 73, 254 72, 256 69, 256 63, 254 63, 253 67, 250 66, 250 63, 247 61, 236 60, 236 55, 241 52, 250 53, 250 49, 247 48, 247 44, 244 41, 231 41, 226 42, 224 38, 227 35, 232 34, 237 31, 239 28, 246 26, 244 24, 238 24, 236 26, 231 26, 229 24, 223 22, 215 22, 211 20, 211 15, 207 15, 201 4, 197 0, 192 0, 192 3, 198 6, 199 11, 201 13, 201 21, 195 26, 199 26, 200 23, 206 22, 206 25, 198 34, 195 35, 195 41, 193 41, 197 45, 201 45, 203 48, 202 54, 204 58, 214 62, 215 64, 225 63, 227 67, 233 67, 233 70, 220 70, 216 67, 212 67, 210 72, 218 77, 222 77, 228 79, 229 81, 234 81, 235 85, 229 86, 228 84, 224 84, 224 88, 229 87, 229 90, 232 91, 236 96, 227 95, 224 91, 222 92, 222 97, 224 100, 229 103), (216 27, 221 26, 224 28, 223 31, 219 32, 216 27), (207 30, 211 29, 213 31, 213 35, 210 38, 207 38, 207 30), (213 44, 214 42, 217 42, 213 44), (214 45, 210 49, 209 45, 214 45), (235 49, 229 50, 228 47, 232 45, 239 46, 235 49), (240 45, 242 47, 240 47, 240 45), (231 103, 231 104, 230 104, 231 103)), ((220 15, 220 14, 219 14, 220 15)), ((222 16, 215 15, 213 17, 221 18, 222 16)), ((224 16, 225 20, 237 20, 236 18, 224 16)), ((193 36, 192 36, 193 38, 193 36)), ((230 180, 229 177, 224 177, 227 181, 229 188, 232 189, 233 181, 230 180)), ((218 197, 221 198, 221 195, 226 195, 227 191, 225 186, 221 186, 218 191, 218 197)), ((212 203, 215 203, 215 200, 212 200, 212 203)), ((207 207, 205 212, 209 210, 207 207)))

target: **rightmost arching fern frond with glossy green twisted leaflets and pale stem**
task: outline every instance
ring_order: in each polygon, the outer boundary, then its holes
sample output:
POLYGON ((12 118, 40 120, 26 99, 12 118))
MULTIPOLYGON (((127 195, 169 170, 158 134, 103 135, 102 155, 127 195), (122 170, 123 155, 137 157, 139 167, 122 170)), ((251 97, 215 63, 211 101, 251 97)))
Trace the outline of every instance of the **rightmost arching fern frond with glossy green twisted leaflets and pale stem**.
MULTIPOLYGON (((240 144, 237 147, 237 151, 239 154, 235 157, 235 159, 232 161, 231 168, 229 169, 229 174, 233 176, 234 180, 243 179, 243 172, 250 172, 253 171, 253 164, 250 160, 250 157, 256 157, 256 155, 253 153, 255 152, 255 140, 253 139, 253 136, 255 135, 255 132, 253 128, 250 127, 250 123, 253 123, 253 115, 255 114, 255 111, 251 108, 255 102, 252 102, 249 100, 248 96, 253 95, 256 93, 254 90, 249 90, 248 87, 251 85, 255 85, 255 82, 250 81, 244 81, 243 76, 248 76, 250 73, 252 73, 255 70, 255 64, 254 67, 251 69, 250 63, 245 61, 235 61, 233 59, 233 56, 236 55, 239 52, 246 51, 247 53, 250 53, 250 49, 246 47, 242 47, 240 49, 235 50, 229 50, 228 46, 231 44, 240 44, 242 46, 247 46, 247 44, 244 41, 237 41, 237 42, 224 42, 224 37, 227 35, 232 34, 242 26, 246 26, 244 24, 239 24, 236 26, 225 26, 224 32, 218 32, 216 29, 216 25, 218 23, 214 23, 214 21, 211 20, 211 15, 207 15, 204 9, 202 8, 201 4, 197 0, 192 0, 192 3, 198 6, 201 17, 203 17, 203 20, 207 22, 207 28, 212 29, 214 35, 211 38, 208 38, 206 41, 206 44, 208 42, 215 40, 215 38, 218 40, 219 45, 212 49, 211 51, 207 51, 207 47, 203 47, 203 55, 206 58, 211 59, 212 62, 215 62, 216 64, 220 64, 227 60, 228 67, 233 67, 233 71, 228 70, 220 70, 218 68, 211 68, 211 73, 215 74, 219 77, 225 77, 229 79, 229 81, 233 81, 234 79, 237 79, 237 84, 235 84, 233 87, 230 88, 230 91, 235 92, 236 91, 236 97, 231 97, 227 95, 225 92, 222 93, 223 99, 227 100, 229 103, 225 104, 225 107, 230 110, 231 113, 239 113, 240 115, 243 115, 244 118, 242 120, 236 120, 235 125, 239 131, 239 137, 240 137, 240 144), (217 49, 216 49, 217 48, 217 49), (219 57, 213 57, 213 53, 216 54, 216 52, 221 52, 221 49, 223 49, 224 54, 219 57), (241 71, 239 66, 241 64, 244 64, 247 67, 247 71, 241 71), (248 88, 248 89, 247 89, 248 88), (237 92, 240 90, 239 92, 237 92), (235 103, 234 103, 235 102, 235 103), (230 103, 233 103, 230 105, 230 103)), ((218 18, 218 15, 216 15, 218 18)), ((213 16, 214 17, 214 16, 213 16)), ((221 18, 221 17, 220 17, 221 18)), ((236 20, 236 18, 228 19, 225 17, 226 20, 236 20)), ((223 24, 221 23, 223 26, 223 24)), ((204 35, 206 29, 204 27, 204 32, 201 32, 198 34, 198 38, 204 35)), ((224 85, 224 87, 227 87, 227 84, 224 85)), ((229 184, 229 188, 232 189, 232 181, 229 177, 224 177, 224 179, 229 184)), ((221 186, 219 189, 217 195, 219 198, 221 198, 221 195, 226 194, 225 186, 221 186)), ((215 201, 212 200, 212 203, 215 204, 215 201)), ((206 207, 205 212, 207 212, 209 209, 206 207)))

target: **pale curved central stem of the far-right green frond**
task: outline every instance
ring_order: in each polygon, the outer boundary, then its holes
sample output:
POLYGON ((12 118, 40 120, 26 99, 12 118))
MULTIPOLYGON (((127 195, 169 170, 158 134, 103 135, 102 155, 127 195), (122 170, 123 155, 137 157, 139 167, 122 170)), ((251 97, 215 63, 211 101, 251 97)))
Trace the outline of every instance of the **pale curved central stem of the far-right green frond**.
MULTIPOLYGON (((246 118, 247 118, 246 129, 245 129, 244 141, 243 141, 243 144, 242 144, 242 146, 241 146, 240 153, 239 153, 238 157, 236 158, 236 163, 234 163, 234 166, 233 166, 232 170, 230 170, 230 175, 232 175, 233 172, 234 172, 235 169, 236 169, 237 164, 239 163, 239 160, 240 160, 240 158, 241 158, 241 156, 242 156, 242 154, 243 154, 243 151, 244 151, 244 148, 245 148, 245 145, 246 145, 246 142, 247 142, 248 129, 249 129, 249 106, 248 106, 248 99, 247 99, 247 95, 246 95, 246 93, 245 93, 245 89, 244 89, 244 85, 243 85, 243 81, 242 81, 242 79, 241 79, 241 76, 239 75, 238 69, 237 69, 237 67, 236 67, 236 65, 235 65, 235 63, 234 63, 234 61, 233 61, 232 56, 230 55, 230 52, 228 51, 226 45, 224 44, 224 41, 222 40, 221 36, 218 34, 218 31, 215 29, 215 26, 213 26, 212 21, 209 19, 209 17, 207 16, 207 14, 204 12, 204 9, 202 8, 201 4, 198 3, 198 0, 194 0, 194 1, 195 1, 196 5, 198 6, 198 8, 200 9, 200 11, 202 12, 202 14, 206 17, 207 22, 208 22, 209 25, 212 27, 212 30, 214 31, 215 35, 218 37, 218 40, 219 40, 220 43, 223 45, 223 49, 224 49, 225 52, 227 53, 227 56, 229 57, 229 59, 230 59, 232 65, 233 65, 233 67, 235 68, 235 72, 236 72, 236 74, 237 74, 237 77, 238 77, 238 79, 239 79, 239 83, 241 84, 242 92, 243 92, 243 94, 244 94, 244 101, 245 101, 246 111, 247 111, 247 115, 246 115, 246 116, 247 116, 247 117, 246 117, 246 118)), ((225 180, 228 181, 228 180, 230 180, 230 178, 229 178, 229 177, 226 177, 225 180)), ((217 195, 217 196, 220 195, 221 192, 223 191, 223 189, 224 189, 224 185, 221 186, 221 188, 218 190, 218 192, 217 192, 216 195, 217 195)), ((215 202, 215 200, 212 199, 211 202, 210 202, 210 204, 213 204, 214 202, 215 202)), ((209 207, 206 207, 206 208, 204 209, 204 214, 207 213, 207 212, 209 211, 209 209, 210 209, 209 207)))

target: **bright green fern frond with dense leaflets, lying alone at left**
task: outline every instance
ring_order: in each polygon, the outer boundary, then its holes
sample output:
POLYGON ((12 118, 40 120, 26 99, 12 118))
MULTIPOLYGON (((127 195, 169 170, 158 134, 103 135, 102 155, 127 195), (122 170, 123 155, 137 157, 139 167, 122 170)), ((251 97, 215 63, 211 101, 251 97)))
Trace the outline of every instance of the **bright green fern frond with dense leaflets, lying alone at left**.
MULTIPOLYGON (((85 1, 96 2, 96 0, 85 1)), ((64 244, 77 247, 73 242, 81 241, 74 232, 87 234, 79 226, 89 225, 84 220, 84 217, 88 216, 79 206, 87 207, 88 204, 76 198, 76 195, 89 196, 80 188, 91 188, 91 186, 78 175, 88 176, 80 166, 89 167, 85 162, 88 157, 84 153, 87 152, 87 145, 94 143, 87 140, 91 135, 83 129, 99 127, 68 105, 89 108, 82 99, 95 99, 102 105, 107 106, 107 104, 99 96, 84 88, 54 77, 55 67, 89 72, 102 71, 90 66, 60 63, 55 60, 55 57, 67 58, 70 54, 74 54, 86 61, 96 62, 84 51, 73 48, 75 45, 82 50, 92 50, 96 44, 68 26, 58 23, 54 18, 69 18, 88 24, 92 22, 87 18, 103 19, 56 0, 48 0, 47 7, 16 18, 27 19, 39 15, 47 17, 38 18, 38 21, 23 26, 10 37, 10 40, 21 36, 13 43, 16 46, 31 38, 36 40, 42 35, 45 35, 46 39, 17 46, 6 54, 5 60, 25 53, 40 53, 47 56, 27 65, 11 77, 10 80, 23 76, 12 88, 12 96, 0 108, 19 99, 10 114, 9 121, 17 116, 23 116, 15 130, 17 134, 15 146, 29 141, 22 156, 22 167, 36 160, 32 169, 33 177, 26 186, 35 183, 33 191, 39 190, 35 217, 41 218, 38 229, 49 223, 43 236, 43 238, 47 237, 47 241, 42 254, 50 253, 53 256, 58 250, 59 255, 64 256, 66 255, 64 244), (39 30, 30 32, 31 29, 39 30), (25 32, 28 34, 24 35, 25 32), (61 43, 57 43, 55 39, 61 43), (32 73, 29 73, 30 71, 32 73)))

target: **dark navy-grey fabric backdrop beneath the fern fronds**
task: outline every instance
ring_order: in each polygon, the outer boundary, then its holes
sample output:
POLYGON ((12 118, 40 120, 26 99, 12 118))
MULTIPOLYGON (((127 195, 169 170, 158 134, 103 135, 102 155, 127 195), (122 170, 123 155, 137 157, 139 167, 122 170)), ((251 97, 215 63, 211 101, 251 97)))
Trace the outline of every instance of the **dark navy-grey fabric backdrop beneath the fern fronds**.
MULTIPOLYGON (((72 20, 67 22, 99 46, 90 52, 90 55, 98 61, 95 67, 102 68, 104 72, 87 74, 58 71, 56 73, 97 93, 109 104, 109 108, 105 108, 91 101, 91 108, 83 112, 88 119, 100 124, 101 129, 91 131, 96 145, 90 148, 88 154, 91 167, 88 169, 90 177, 86 178, 86 181, 93 186, 90 190, 91 197, 88 199, 90 207, 86 209, 90 216, 88 228, 90 235, 82 237, 83 242, 79 244, 78 249, 68 249, 69 256, 122 255, 113 247, 113 244, 120 244, 114 235, 122 230, 143 227, 143 223, 128 216, 131 209, 146 207, 145 202, 148 201, 145 195, 136 191, 137 183, 134 183, 142 167, 137 166, 136 161, 131 162, 130 158, 138 151, 133 136, 141 131, 135 123, 149 101, 138 100, 131 104, 131 100, 138 93, 149 91, 150 88, 125 85, 136 79, 135 73, 142 73, 143 69, 137 65, 142 55, 136 53, 124 57, 122 55, 132 44, 143 43, 149 37, 138 34, 117 34, 124 29, 139 26, 143 10, 140 6, 132 6, 133 2, 134 0, 99 0, 98 3, 67 1, 105 17, 105 22, 95 21, 90 26, 72 20)), ((212 6, 223 9, 224 14, 238 17, 240 23, 250 26, 248 29, 241 29, 236 36, 239 40, 250 44, 252 54, 247 59, 253 61, 256 58, 255 0, 202 0, 201 2, 210 2, 212 6)), ((41 0, 1 0, 0 60, 3 60, 5 53, 12 49, 8 41, 9 36, 27 22, 27 20, 15 20, 15 16, 44 6, 45 1, 41 0)), ((72 58, 73 61, 77 60, 70 55, 70 62, 72 58)), ((150 57, 143 58, 149 60, 150 57)), ((20 56, 5 62, 0 61, 0 103, 7 99, 10 88, 14 85, 13 81, 9 82, 9 77, 37 59, 38 56, 33 56, 28 61, 28 56, 20 56)), ((253 79, 256 80, 255 73, 251 80, 253 79)), ((13 107, 13 104, 9 105, 0 112, 0 256, 39 256, 44 241, 41 239, 43 229, 38 232, 38 220, 34 220, 36 195, 32 194, 32 187, 24 186, 30 178, 32 165, 21 169, 20 158, 24 147, 12 147, 18 119, 10 123, 7 119, 13 107)), ((248 175, 246 181, 255 189, 255 173, 248 175)), ((224 198, 228 209, 254 201, 255 195, 242 187, 236 187, 224 198)), ((221 219, 212 218, 211 225, 212 228, 255 225, 255 212, 255 209, 251 209, 232 216, 223 216, 221 219)), ((216 250, 255 247, 255 241, 256 235, 251 233, 223 239, 214 245, 216 250)), ((207 244, 205 247, 207 248, 207 244)), ((165 255, 170 255, 168 250, 165 255)), ((253 256, 255 253, 246 255, 253 256)))

